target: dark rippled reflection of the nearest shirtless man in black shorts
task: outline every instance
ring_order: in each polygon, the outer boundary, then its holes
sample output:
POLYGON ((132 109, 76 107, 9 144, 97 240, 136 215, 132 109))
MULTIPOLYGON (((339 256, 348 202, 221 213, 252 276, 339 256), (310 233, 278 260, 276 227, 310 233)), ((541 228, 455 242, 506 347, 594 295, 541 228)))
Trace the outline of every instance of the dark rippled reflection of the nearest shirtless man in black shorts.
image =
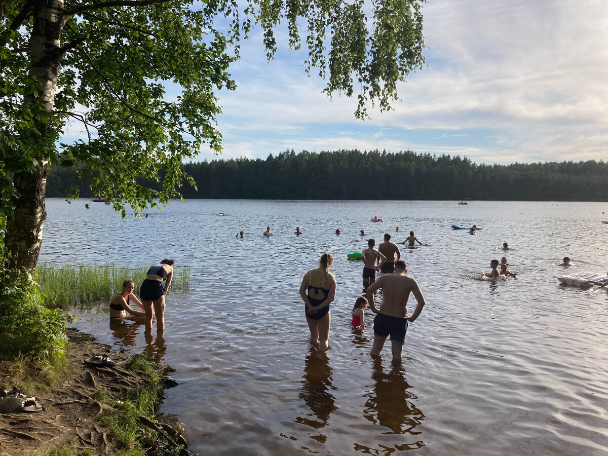
MULTIPOLYGON (((382 434, 410 434, 416 440, 407 443, 407 448, 413 449, 424 446, 420 440, 421 432, 415 428, 424 419, 424 414, 413 403, 416 396, 407 390, 411 386, 405 378, 405 369, 399 362, 392 362, 390 370, 384 371, 382 359, 373 360, 371 379, 375 381, 372 392, 365 394, 365 410, 363 416, 379 426, 390 429, 391 432, 382 434)), ((359 446, 360 447, 360 446, 359 446)))

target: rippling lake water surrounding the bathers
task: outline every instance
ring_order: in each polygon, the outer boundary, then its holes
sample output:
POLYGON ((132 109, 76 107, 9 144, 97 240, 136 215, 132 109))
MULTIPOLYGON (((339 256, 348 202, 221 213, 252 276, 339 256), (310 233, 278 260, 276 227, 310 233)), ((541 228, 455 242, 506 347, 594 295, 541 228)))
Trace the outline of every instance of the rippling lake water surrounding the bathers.
POLYGON ((192 268, 192 289, 168 295, 164 337, 109 325, 108 303, 70 311, 100 342, 174 368, 160 411, 185 423, 195 453, 608 454, 608 290, 556 280, 564 256, 567 272, 606 274, 607 203, 192 200, 126 221, 84 204, 47 200, 41 261, 192 268), (410 230, 429 244, 401 248, 427 304, 393 365, 390 343, 368 356, 369 311, 351 334, 362 263, 347 254, 410 230), (326 355, 309 346, 298 291, 323 252, 337 280, 326 355), (475 279, 503 255, 516 279, 475 279))

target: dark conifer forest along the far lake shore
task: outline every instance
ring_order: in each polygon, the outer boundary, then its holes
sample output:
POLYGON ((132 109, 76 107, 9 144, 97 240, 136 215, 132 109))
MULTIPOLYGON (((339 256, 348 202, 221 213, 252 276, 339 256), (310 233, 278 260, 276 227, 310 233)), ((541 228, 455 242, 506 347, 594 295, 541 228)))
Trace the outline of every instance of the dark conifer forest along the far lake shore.
MULTIPOLYGON (((486 199, 608 201, 604 161, 475 164, 468 158, 339 150, 287 150, 263 159, 214 159, 184 164, 198 190, 184 198, 247 199, 486 199)), ((47 196, 65 197, 78 185, 89 198, 88 179, 74 182, 74 168, 54 167, 47 196)))

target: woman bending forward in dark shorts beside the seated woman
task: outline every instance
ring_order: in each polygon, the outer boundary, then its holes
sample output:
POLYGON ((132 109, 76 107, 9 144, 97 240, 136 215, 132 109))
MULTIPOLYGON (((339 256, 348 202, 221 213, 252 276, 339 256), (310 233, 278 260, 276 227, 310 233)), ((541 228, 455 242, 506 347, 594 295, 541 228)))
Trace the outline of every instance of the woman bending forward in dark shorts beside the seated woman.
POLYGON ((165 330, 165 295, 169 291, 173 280, 173 266, 175 261, 162 260, 148 269, 146 280, 139 288, 139 297, 142 299, 143 310, 146 313, 146 329, 152 329, 152 316, 156 314, 156 330, 165 330), (167 283, 162 285, 163 280, 167 283), (152 306, 154 305, 154 309, 152 306))

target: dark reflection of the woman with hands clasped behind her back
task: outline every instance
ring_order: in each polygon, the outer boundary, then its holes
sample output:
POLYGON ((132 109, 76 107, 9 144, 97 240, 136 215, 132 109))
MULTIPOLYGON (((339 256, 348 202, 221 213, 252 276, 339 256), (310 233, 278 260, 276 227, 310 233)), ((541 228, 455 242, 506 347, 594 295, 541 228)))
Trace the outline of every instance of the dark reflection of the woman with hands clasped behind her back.
POLYGON ((336 398, 330 392, 336 389, 331 383, 331 374, 330 359, 327 354, 312 348, 305 359, 302 387, 298 396, 306 402, 313 413, 298 416, 295 419, 296 423, 306 424, 314 429, 326 426, 331 412, 337 409, 334 405, 336 398))

